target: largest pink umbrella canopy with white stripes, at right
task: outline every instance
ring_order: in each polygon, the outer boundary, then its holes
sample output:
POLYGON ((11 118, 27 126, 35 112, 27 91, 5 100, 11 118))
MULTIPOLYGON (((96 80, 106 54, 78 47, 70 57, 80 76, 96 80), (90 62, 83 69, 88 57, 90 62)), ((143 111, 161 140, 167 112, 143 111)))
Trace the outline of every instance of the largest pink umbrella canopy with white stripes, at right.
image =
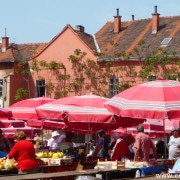
POLYGON ((145 119, 180 118, 180 83, 156 80, 131 87, 104 103, 116 115, 145 119))

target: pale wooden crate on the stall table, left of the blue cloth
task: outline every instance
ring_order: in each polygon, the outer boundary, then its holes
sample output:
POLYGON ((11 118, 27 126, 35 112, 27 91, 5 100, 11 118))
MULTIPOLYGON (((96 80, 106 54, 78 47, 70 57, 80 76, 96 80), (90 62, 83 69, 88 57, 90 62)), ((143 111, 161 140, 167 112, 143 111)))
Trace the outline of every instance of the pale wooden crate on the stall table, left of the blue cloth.
POLYGON ((125 168, 125 162, 121 161, 100 161, 98 160, 97 166, 99 169, 122 169, 125 168))

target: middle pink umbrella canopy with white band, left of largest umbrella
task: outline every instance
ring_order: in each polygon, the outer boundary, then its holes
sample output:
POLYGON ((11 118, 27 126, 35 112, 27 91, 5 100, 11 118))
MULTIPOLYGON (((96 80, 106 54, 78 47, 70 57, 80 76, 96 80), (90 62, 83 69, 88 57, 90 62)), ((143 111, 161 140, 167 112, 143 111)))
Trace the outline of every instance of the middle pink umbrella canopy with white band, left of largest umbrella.
POLYGON ((108 123, 113 113, 103 107, 105 101, 107 98, 96 95, 65 97, 38 106, 36 112, 40 119, 63 121, 68 115, 70 121, 108 123))

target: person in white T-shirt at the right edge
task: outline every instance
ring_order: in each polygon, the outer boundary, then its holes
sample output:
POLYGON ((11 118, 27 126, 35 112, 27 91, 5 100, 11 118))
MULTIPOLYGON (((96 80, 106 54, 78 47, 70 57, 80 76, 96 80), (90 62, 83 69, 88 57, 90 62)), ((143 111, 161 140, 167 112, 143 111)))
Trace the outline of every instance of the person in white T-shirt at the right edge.
POLYGON ((168 143, 169 147, 169 159, 180 158, 180 133, 179 128, 174 127, 171 130, 171 137, 168 143))

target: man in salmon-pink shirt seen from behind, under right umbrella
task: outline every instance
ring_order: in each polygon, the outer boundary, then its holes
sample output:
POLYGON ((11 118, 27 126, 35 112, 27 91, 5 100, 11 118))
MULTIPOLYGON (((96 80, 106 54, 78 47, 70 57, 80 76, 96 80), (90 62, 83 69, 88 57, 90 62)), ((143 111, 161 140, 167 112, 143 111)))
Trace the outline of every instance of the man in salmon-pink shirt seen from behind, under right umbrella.
POLYGON ((149 135, 144 133, 144 126, 139 124, 137 126, 138 134, 135 137, 134 149, 134 161, 146 161, 149 162, 150 149, 153 150, 153 156, 156 157, 156 147, 152 142, 149 135))

